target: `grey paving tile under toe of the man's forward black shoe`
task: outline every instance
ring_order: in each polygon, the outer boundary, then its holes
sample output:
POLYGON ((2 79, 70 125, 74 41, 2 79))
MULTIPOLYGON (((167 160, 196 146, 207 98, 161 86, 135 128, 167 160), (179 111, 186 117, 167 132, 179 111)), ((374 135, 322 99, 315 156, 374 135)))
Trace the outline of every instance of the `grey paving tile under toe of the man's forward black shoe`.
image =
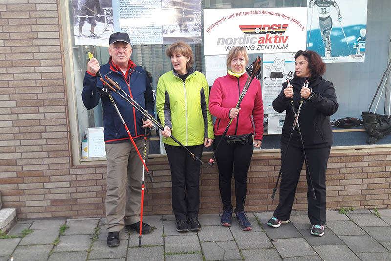
POLYGON ((89 252, 88 259, 126 258, 127 250, 127 240, 120 240, 120 245, 117 247, 108 247, 106 241, 95 241, 91 252, 89 252))

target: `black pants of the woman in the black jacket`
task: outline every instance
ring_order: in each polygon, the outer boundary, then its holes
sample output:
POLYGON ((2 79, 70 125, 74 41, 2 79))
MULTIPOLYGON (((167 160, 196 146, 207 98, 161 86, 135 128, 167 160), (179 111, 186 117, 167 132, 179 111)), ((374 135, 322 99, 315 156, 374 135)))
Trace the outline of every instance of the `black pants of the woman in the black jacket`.
MULTIPOLYGON (((281 144, 281 157, 283 157, 285 149, 286 144, 281 144)), ((314 200, 306 168, 308 217, 312 225, 324 225, 326 223, 326 169, 330 147, 305 149, 305 154, 316 195, 314 200)), ((275 218, 283 221, 289 220, 292 211, 296 187, 304 163, 303 148, 289 146, 285 157, 281 173, 280 202, 273 214, 275 218)))

